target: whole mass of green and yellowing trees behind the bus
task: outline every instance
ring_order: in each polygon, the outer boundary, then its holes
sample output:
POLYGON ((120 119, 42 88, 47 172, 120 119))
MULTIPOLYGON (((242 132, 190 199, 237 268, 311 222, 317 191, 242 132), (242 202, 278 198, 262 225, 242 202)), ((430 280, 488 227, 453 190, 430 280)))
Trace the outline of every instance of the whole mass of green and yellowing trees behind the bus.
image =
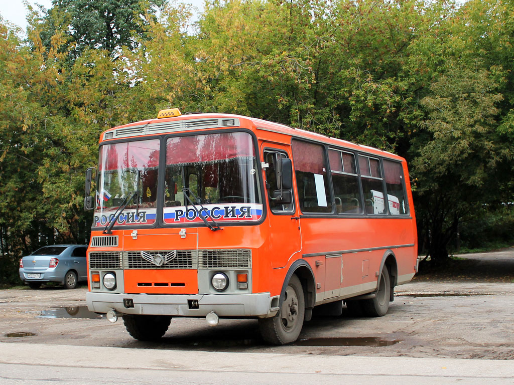
POLYGON ((172 106, 406 157, 420 251, 447 258, 458 229, 514 201, 513 8, 209 0, 192 24, 164 0, 54 0, 25 41, 0 23, 0 271, 40 243, 84 242, 100 132, 172 106))

